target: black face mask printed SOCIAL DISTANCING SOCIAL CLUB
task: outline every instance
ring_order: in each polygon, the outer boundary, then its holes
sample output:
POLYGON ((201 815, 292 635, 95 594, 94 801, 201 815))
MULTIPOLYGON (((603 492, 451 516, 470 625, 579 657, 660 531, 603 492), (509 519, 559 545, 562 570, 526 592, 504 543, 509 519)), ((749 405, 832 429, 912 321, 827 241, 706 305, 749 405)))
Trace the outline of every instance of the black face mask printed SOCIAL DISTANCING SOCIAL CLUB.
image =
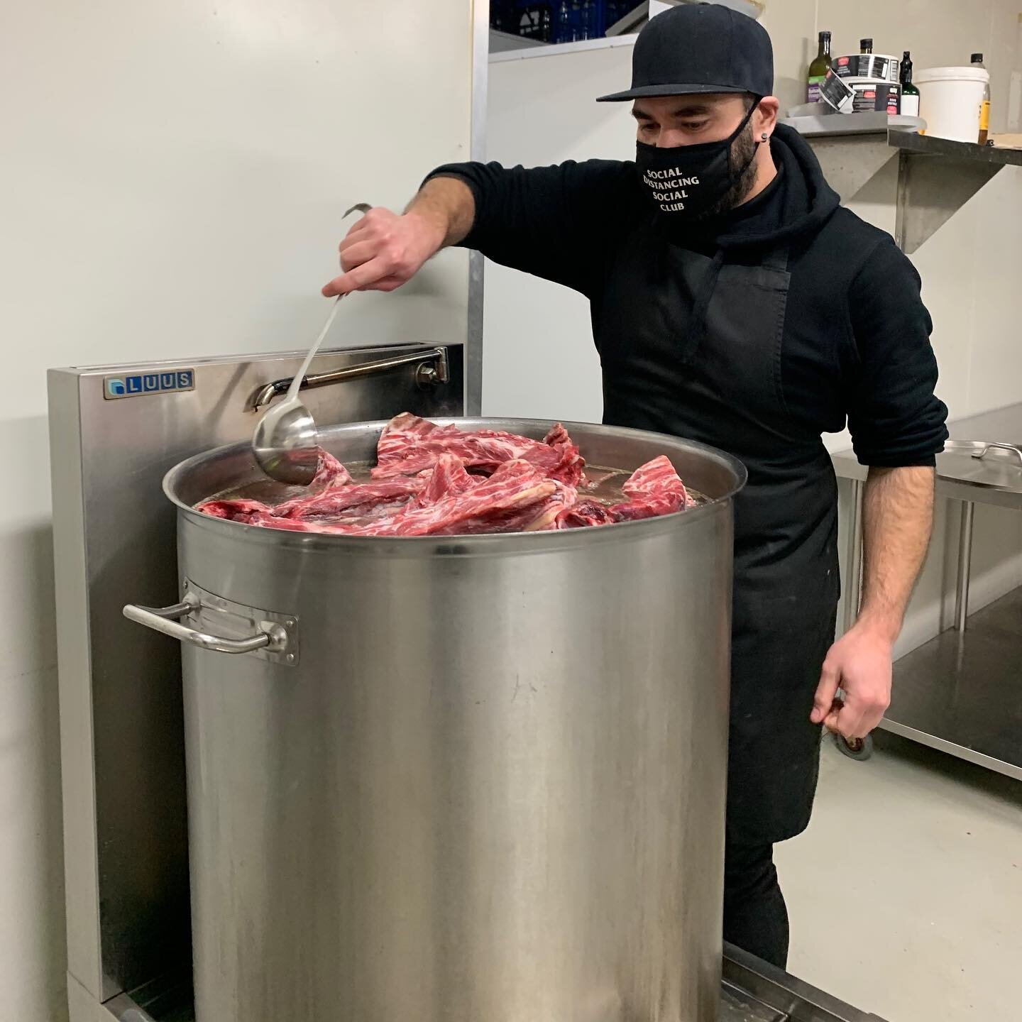
POLYGON ((699 145, 664 148, 636 142, 639 178, 660 212, 671 221, 694 220, 712 210, 752 165, 752 155, 737 171, 732 167, 732 146, 745 131, 755 105, 728 138, 699 145))

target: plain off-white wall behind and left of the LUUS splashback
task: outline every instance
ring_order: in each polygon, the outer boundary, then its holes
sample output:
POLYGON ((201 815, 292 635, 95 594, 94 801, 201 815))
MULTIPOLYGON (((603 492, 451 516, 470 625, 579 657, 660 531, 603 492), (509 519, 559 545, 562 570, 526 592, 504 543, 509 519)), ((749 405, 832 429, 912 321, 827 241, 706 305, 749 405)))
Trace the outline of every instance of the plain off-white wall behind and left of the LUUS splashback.
MULTIPOLYGON (((464 0, 0 0, 0 1018, 64 1015, 45 371, 305 346, 340 215, 468 155, 464 0)), ((334 344, 457 337, 467 262, 334 344)))

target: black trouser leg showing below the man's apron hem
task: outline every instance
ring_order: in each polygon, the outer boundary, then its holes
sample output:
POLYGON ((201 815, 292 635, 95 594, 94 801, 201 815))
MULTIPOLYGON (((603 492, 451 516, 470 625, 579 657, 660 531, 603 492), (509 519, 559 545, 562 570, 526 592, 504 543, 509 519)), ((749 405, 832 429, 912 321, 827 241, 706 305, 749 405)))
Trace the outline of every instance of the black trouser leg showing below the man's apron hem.
POLYGON ((774 846, 728 842, 724 858, 724 939, 771 965, 788 963, 788 909, 774 846))

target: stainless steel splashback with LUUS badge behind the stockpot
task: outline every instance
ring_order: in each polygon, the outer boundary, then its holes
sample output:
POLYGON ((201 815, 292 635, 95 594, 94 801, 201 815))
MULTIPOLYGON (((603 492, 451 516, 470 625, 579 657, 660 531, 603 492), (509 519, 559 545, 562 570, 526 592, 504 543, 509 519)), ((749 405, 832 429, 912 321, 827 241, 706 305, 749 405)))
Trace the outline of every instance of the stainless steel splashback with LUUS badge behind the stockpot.
MULTIPOLYGON (((423 360, 305 392, 317 422, 401 411, 460 415, 460 344, 325 352, 312 373, 422 351, 423 360)), ((105 1002, 190 967, 181 664, 121 614, 125 594, 159 604, 177 586, 165 472, 251 435, 252 400, 297 354, 49 373, 60 662, 68 980, 105 1002)))

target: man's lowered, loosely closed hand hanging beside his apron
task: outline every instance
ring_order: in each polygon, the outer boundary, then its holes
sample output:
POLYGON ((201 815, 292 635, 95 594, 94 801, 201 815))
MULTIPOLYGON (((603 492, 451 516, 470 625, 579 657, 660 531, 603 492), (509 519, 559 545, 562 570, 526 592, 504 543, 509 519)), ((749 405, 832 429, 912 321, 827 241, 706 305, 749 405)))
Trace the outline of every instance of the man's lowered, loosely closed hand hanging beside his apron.
POLYGON ((824 660, 810 719, 846 739, 866 738, 891 701, 893 647, 885 636, 856 624, 824 660), (843 702, 835 702, 837 691, 843 702))

